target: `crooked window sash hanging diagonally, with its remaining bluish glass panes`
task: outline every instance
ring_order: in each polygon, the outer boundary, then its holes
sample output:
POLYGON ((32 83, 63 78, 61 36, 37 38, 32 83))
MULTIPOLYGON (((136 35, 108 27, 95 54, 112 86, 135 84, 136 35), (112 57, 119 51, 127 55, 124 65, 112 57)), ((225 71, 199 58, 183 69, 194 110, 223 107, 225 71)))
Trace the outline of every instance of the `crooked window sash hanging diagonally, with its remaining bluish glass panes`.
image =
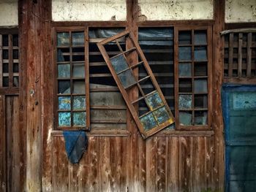
POLYGON ((172 112, 165 101, 165 97, 159 88, 157 80, 146 61, 138 42, 135 42, 133 35, 129 31, 124 31, 97 43, 97 46, 127 103, 127 107, 129 108, 143 139, 146 139, 152 134, 157 133, 157 131, 174 123, 172 112), (128 38, 132 42, 133 47, 131 49, 122 50, 118 41, 124 38, 128 38), (116 45, 120 50, 120 53, 110 58, 104 47, 108 45, 116 45), (140 62, 135 63, 134 61, 127 59, 129 54, 132 53, 138 54, 140 62), (143 77, 136 75, 135 71, 138 69, 144 69, 146 75, 143 77), (150 91, 144 89, 145 85, 148 86, 148 84, 151 85, 150 91), (135 101, 131 101, 127 92, 129 91, 129 88, 134 87, 138 88, 139 97, 135 101), (144 101, 148 108, 148 111, 143 115, 139 115, 138 110, 135 110, 135 106, 138 105, 139 101, 144 101))

